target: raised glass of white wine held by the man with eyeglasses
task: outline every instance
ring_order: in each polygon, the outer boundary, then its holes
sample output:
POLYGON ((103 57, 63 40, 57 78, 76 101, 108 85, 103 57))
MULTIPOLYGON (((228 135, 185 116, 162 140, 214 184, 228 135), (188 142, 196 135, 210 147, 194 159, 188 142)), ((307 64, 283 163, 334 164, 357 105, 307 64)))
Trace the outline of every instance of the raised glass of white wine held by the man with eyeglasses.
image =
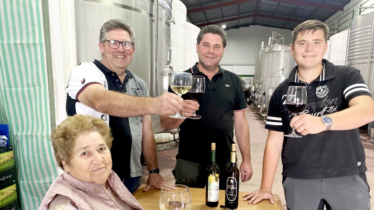
MULTIPOLYGON (((191 89, 192 75, 188 72, 173 71, 170 78, 170 88, 177 93, 179 97, 188 93, 191 89)), ((169 115, 172 118, 186 119, 186 117, 179 114, 179 109, 174 115, 169 115)))

